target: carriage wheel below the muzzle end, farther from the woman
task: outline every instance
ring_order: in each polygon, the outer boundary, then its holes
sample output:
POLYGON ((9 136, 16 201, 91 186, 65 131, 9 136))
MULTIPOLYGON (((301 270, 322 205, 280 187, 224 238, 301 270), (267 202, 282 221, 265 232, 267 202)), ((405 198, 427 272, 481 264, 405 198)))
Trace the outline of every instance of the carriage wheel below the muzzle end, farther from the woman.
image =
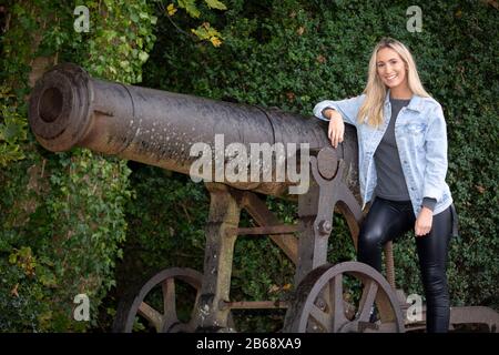
POLYGON ((190 321, 197 305, 202 278, 201 273, 191 268, 172 267, 156 273, 139 290, 134 288, 123 297, 118 306, 113 331, 132 332, 135 316, 141 316, 157 333, 194 332, 190 321), (182 317, 177 314, 180 302, 184 313, 182 317), (185 314, 189 303, 193 304, 192 312, 185 314))

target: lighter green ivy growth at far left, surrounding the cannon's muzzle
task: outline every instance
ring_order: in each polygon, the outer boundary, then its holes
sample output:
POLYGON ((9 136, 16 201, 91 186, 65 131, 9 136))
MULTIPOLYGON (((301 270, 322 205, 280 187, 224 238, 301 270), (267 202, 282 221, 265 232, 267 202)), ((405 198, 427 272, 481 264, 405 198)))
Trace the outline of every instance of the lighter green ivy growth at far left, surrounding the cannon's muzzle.
POLYGON ((44 70, 75 62, 92 75, 141 81, 155 40, 145 0, 8 1, 2 17, 0 332, 85 331, 115 284, 131 190, 126 162, 86 150, 52 154, 27 130, 27 99, 44 70), (85 4, 90 32, 77 32, 85 4), (78 294, 90 322, 75 322, 78 294))

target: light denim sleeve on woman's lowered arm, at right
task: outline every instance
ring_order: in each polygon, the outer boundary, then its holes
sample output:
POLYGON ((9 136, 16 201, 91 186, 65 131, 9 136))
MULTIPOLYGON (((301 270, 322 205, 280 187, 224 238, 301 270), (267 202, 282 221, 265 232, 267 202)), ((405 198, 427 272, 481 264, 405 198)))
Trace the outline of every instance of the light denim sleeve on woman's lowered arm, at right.
POLYGON ((426 133, 425 197, 441 200, 447 174, 447 128, 444 111, 438 105, 426 133))

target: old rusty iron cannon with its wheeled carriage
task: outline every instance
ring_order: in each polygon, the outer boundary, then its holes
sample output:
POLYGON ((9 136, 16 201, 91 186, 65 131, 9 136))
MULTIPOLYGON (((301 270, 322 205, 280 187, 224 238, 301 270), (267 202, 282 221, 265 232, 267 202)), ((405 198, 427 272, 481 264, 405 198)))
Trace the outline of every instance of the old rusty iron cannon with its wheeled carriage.
MULTIPOLYGON (((355 261, 327 263, 334 211, 345 216, 355 246, 363 220, 355 128, 347 125, 345 142, 333 149, 326 123, 319 120, 98 80, 71 63, 54 67, 37 82, 29 123, 40 144, 50 151, 88 148, 190 174, 203 180, 210 193, 204 272, 171 267, 155 273, 121 300, 114 331, 131 332, 135 318, 143 317, 157 332, 231 332, 231 310, 251 308, 286 308, 284 332, 424 328, 424 320, 408 316, 410 304, 404 291, 396 288, 391 243, 385 246, 386 278, 355 261), (272 154, 264 159, 268 150, 272 154), (202 158, 205 160, 198 164, 202 158), (282 173, 284 163, 289 162, 295 166, 287 164, 282 173), (193 169, 195 164, 202 169, 193 169), (304 181, 305 189, 298 189, 304 181), (282 223, 262 194, 291 203, 297 200, 299 222, 282 223), (240 227, 243 210, 255 226, 240 227), (295 264, 291 300, 231 301, 238 235, 268 235, 295 264), (175 302, 181 284, 193 297, 186 318, 179 316, 175 302), (358 285, 356 297, 348 290, 353 284, 358 285), (157 288, 162 302, 153 305, 147 295, 157 288), (369 320, 374 305, 377 322, 369 320)), ((499 317, 487 307, 451 310, 451 327, 470 323, 496 332, 499 317)))

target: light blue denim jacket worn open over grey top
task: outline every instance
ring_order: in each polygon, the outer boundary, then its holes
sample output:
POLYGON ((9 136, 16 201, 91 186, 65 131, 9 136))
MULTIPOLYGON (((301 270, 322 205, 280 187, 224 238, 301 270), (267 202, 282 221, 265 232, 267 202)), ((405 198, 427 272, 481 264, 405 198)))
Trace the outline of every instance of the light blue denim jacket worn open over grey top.
MULTIPOLYGON (((358 168, 363 210, 373 199, 377 183, 374 153, 381 142, 391 116, 389 90, 384 105, 384 121, 378 129, 357 123, 357 113, 365 94, 340 101, 322 101, 314 108, 314 115, 328 121, 323 110, 332 108, 342 113, 346 123, 355 125, 358 138, 358 168)), ((440 104, 432 98, 413 95, 409 104, 400 110, 395 122, 395 140, 404 176, 418 216, 422 197, 437 200, 434 215, 445 211, 451 203, 447 174, 447 128, 440 104)))

